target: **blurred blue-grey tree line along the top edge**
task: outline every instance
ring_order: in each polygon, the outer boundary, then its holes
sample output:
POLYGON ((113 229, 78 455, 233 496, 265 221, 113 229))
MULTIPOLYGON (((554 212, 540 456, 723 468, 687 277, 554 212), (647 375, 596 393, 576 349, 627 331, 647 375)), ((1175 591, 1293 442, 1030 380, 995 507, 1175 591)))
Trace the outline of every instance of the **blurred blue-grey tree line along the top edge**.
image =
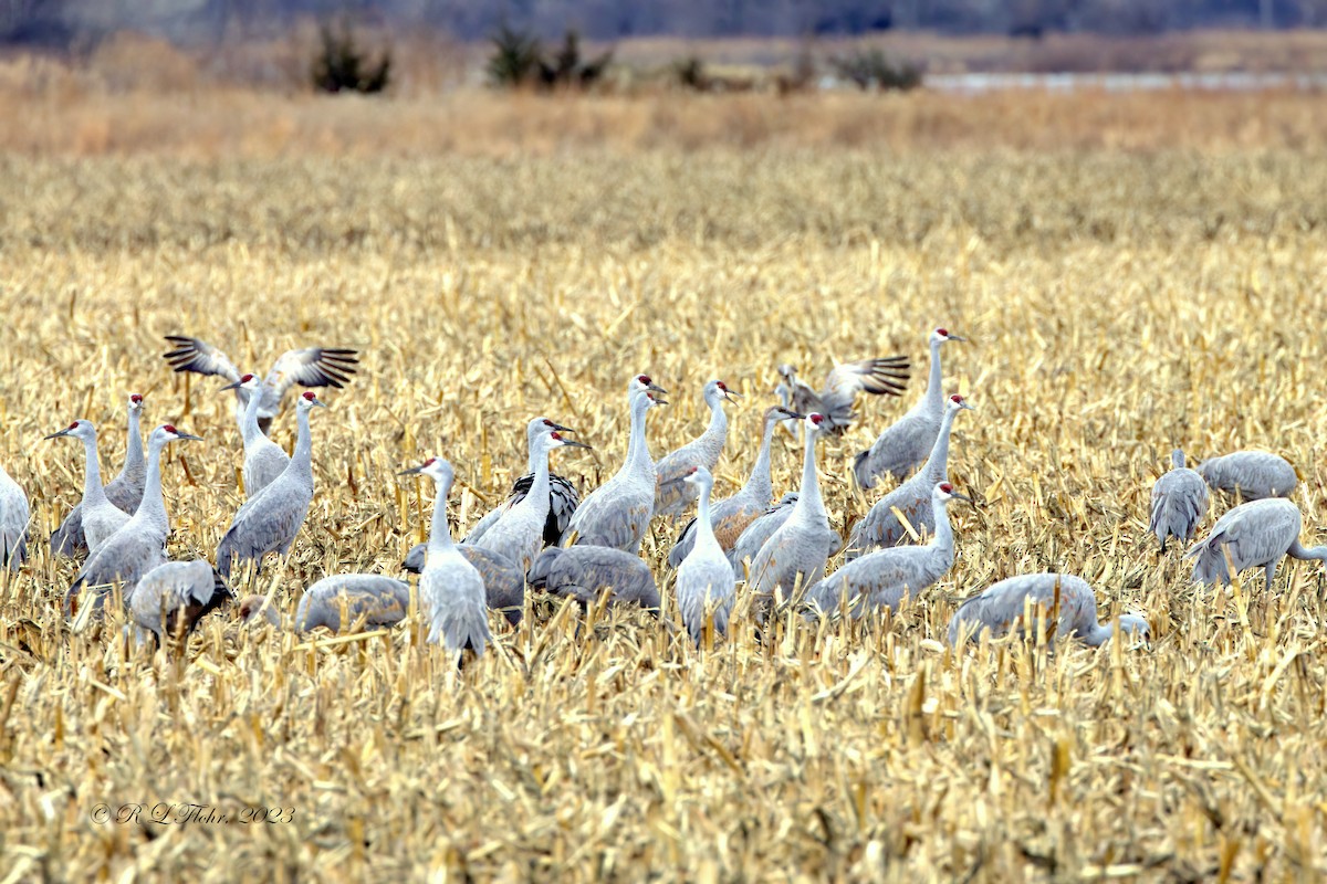
POLYGON ((507 25, 543 37, 1143 34, 1189 28, 1316 28, 1327 0, 0 0, 0 41, 69 45, 133 28, 176 41, 280 33, 300 19, 353 16, 480 40, 507 25))

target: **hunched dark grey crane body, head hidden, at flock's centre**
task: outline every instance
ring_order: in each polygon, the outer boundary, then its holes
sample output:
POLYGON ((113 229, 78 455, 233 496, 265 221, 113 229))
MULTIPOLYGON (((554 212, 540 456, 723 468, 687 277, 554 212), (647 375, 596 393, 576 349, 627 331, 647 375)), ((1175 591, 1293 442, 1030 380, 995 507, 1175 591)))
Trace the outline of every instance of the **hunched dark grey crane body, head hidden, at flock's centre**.
POLYGON ((608 592, 610 606, 637 604, 654 612, 660 608, 660 591, 649 566, 638 555, 606 546, 547 549, 529 569, 529 584, 575 598, 581 607, 608 592))

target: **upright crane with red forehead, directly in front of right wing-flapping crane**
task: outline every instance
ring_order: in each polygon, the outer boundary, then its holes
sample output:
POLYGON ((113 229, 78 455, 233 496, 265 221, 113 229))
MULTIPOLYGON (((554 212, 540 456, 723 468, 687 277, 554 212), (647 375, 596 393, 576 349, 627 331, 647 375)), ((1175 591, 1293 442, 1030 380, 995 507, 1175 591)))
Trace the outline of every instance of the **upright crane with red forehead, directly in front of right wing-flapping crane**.
POLYGON ((808 415, 803 421, 805 453, 802 464, 802 489, 779 530, 760 547, 751 562, 750 583, 756 598, 756 620, 764 624, 771 602, 778 604, 784 592, 792 594, 798 586, 815 584, 825 570, 829 549, 837 539, 829 527, 820 480, 816 476, 816 437, 820 436, 821 415, 808 415))

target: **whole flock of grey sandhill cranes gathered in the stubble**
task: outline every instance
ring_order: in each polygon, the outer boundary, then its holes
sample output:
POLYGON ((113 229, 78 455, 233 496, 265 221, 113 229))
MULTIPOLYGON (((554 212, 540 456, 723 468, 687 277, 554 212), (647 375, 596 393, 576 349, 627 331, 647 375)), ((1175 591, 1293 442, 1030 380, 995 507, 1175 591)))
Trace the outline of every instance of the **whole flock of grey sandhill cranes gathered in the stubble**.
MULTIPOLYGON (((50 537, 57 555, 86 553, 65 595, 66 614, 93 616, 118 590, 141 641, 179 639, 203 615, 234 599, 228 583, 236 567, 251 563, 256 571, 268 553, 289 554, 314 494, 309 419, 324 403, 312 390, 296 399, 297 436, 289 456, 267 437, 267 429, 292 387, 340 388, 357 364, 353 350, 309 347, 284 354, 260 379, 240 374, 223 353, 202 341, 176 335, 169 341, 175 349, 166 359, 176 371, 219 375, 231 382, 222 390, 236 396, 247 498, 222 538, 215 566, 206 559, 171 562, 166 554, 170 520, 162 494, 162 451, 198 436, 165 424, 149 433, 145 452, 139 433, 143 398, 130 396, 126 463, 105 485, 97 428, 90 421, 76 420, 48 436, 82 441, 86 464, 82 501, 50 537)), ((945 329, 929 335, 930 371, 921 400, 856 456, 852 470, 860 488, 871 489, 881 477, 897 484, 852 526, 847 545, 825 513, 816 441, 852 424, 859 394, 900 395, 909 372, 905 357, 836 366, 820 391, 798 380, 792 367, 780 366, 783 383, 776 392, 783 404, 763 412, 750 478, 726 500, 711 497, 713 470, 727 439, 725 403, 736 394, 717 379, 703 388, 709 427, 656 463, 646 439, 646 415, 666 404, 666 391, 648 375, 633 375, 626 390, 626 457, 618 472, 584 500, 572 482, 551 472, 549 456, 559 448, 588 445, 568 439, 564 433, 572 431, 561 424, 532 419, 525 428, 528 473, 460 542, 451 538, 446 512, 455 481, 451 464, 430 457, 403 470, 437 484, 429 542, 411 549, 402 565, 419 574, 418 599, 429 640, 450 652, 482 653, 492 640, 488 612, 498 611, 518 624, 527 584, 583 604, 606 594, 610 604, 658 611, 658 586, 641 558, 641 543, 656 517, 675 520, 693 502, 695 517, 681 531, 667 565, 675 571, 682 624, 698 645, 729 632, 740 582, 762 628, 790 610, 807 619, 897 611, 905 598, 917 598, 953 566, 947 509, 953 501, 969 501, 949 481, 954 420, 973 408, 963 396, 943 395, 941 347, 951 341, 963 338, 945 329), (771 444, 780 425, 802 437, 802 481, 795 493, 771 506, 771 444), (926 542, 914 543, 922 533, 926 542), (844 565, 827 575, 831 557, 840 550, 844 565)), ((1327 546, 1306 549, 1299 542, 1299 510, 1285 500, 1295 484, 1294 469, 1275 455, 1237 452, 1186 469, 1177 451, 1174 469, 1153 488, 1149 531, 1165 553, 1169 538, 1188 542, 1194 537, 1208 510, 1209 488, 1242 496, 1247 502, 1222 516, 1185 558, 1193 559, 1196 582, 1229 582, 1233 573, 1263 567, 1270 586, 1285 555, 1327 562, 1327 546)), ((17 570, 24 562, 29 521, 27 497, 0 469, 0 566, 17 570)), ((405 580, 377 574, 332 575, 303 594, 292 627, 340 631, 387 626, 405 619, 409 606, 405 580)), ((281 623, 271 598, 247 596, 239 611, 245 620, 281 623)), ((949 639, 959 643, 982 632, 999 637, 1023 631, 1035 619, 1089 644, 1105 641, 1113 631, 1149 637, 1141 616, 1099 624, 1096 596, 1083 579, 1027 574, 1001 580, 961 604, 949 639)))

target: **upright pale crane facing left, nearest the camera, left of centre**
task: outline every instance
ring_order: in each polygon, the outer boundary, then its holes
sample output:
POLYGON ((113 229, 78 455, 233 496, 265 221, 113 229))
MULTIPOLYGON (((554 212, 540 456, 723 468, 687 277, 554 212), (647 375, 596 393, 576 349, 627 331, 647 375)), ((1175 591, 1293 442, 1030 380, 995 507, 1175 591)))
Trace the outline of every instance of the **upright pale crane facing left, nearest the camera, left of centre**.
POLYGON ((430 457, 402 476, 423 474, 438 485, 429 527, 429 549, 419 575, 419 607, 429 624, 429 641, 442 644, 449 653, 471 649, 476 655, 492 641, 484 580, 479 571, 451 542, 447 525, 447 496, 456 481, 451 464, 430 457))

